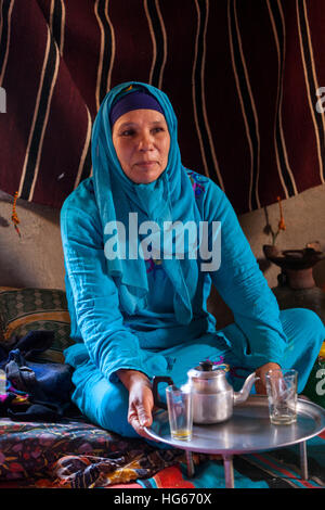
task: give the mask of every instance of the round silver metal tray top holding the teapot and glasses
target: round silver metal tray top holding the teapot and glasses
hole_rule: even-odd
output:
[[[290,425],[270,423],[268,397],[251,395],[246,403],[234,407],[230,420],[209,425],[193,425],[191,441],[170,436],[168,412],[158,410],[146,429],[156,441],[202,454],[240,455],[281,448],[304,442],[325,429],[325,409],[298,398],[297,422]]]

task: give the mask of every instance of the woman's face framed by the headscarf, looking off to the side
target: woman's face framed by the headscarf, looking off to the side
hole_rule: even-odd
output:
[[[113,144],[123,173],[138,184],[158,179],[168,163],[170,136],[164,115],[133,110],[113,126]]]

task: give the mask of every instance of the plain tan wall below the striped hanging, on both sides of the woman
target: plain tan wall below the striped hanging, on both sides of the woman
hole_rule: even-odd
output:
[[[18,200],[20,238],[11,221],[12,200],[0,192],[0,285],[64,289],[60,212]],[[281,250],[302,248],[317,240],[325,251],[325,186],[284,201],[283,211],[287,229],[281,232],[276,243]],[[268,212],[272,226],[276,227],[278,205],[273,204]],[[263,269],[262,245],[270,243],[263,233],[264,209],[247,213],[239,221]],[[277,284],[278,272],[273,265],[264,271],[270,286]],[[325,262],[315,267],[314,277],[317,284],[325,285]]]

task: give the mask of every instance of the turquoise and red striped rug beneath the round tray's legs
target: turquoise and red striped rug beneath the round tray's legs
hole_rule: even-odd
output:
[[[307,442],[308,480],[300,477],[299,446],[234,457],[235,488],[324,488],[325,434]],[[117,486],[116,486],[117,487]],[[127,485],[125,485],[127,487]],[[205,460],[190,479],[185,463],[170,467],[132,487],[141,488],[224,488],[222,460]]]

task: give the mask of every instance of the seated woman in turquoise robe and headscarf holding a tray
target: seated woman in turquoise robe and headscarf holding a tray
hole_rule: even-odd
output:
[[[324,326],[310,310],[278,310],[224,193],[182,166],[166,94],[139,82],[115,87],[93,126],[92,163],[93,177],[61,214],[76,342],[65,359],[75,368],[73,400],[80,410],[107,430],[145,436],[152,378],[181,384],[204,359],[227,364],[236,390],[240,374],[256,371],[258,393],[266,370],[294,367],[301,392]],[[188,234],[180,252],[180,231],[166,242],[176,221],[221,230],[209,229],[196,244]],[[211,260],[214,246],[220,265]],[[234,314],[221,331],[206,308],[211,283]]]

